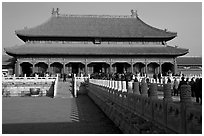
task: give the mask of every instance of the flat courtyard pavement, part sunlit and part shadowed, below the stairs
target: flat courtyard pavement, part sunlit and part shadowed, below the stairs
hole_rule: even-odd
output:
[[[2,98],[3,134],[118,134],[86,95],[78,98]]]

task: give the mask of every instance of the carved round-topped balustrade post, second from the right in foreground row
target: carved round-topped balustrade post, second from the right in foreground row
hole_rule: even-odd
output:
[[[173,99],[171,97],[171,84],[170,83],[163,85],[163,92],[164,92],[163,100],[166,102],[172,102]]]

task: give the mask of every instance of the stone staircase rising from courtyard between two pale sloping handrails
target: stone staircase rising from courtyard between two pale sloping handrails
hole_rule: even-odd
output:
[[[56,98],[73,98],[71,91],[72,91],[71,81],[69,80],[67,82],[59,81],[57,85]]]

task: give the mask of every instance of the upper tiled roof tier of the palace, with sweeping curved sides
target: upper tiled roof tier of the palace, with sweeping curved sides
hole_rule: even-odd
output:
[[[110,15],[53,15],[45,23],[16,31],[27,41],[35,37],[97,37],[139,38],[168,41],[177,33],[157,29],[144,23],[138,16]]]

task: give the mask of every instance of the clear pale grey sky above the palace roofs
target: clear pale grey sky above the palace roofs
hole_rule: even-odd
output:
[[[79,15],[131,15],[131,9],[136,9],[145,23],[177,32],[168,45],[189,49],[186,56],[202,56],[201,2],[3,2],[2,51],[23,45],[15,30],[44,23],[52,8],[59,8],[61,14]]]

